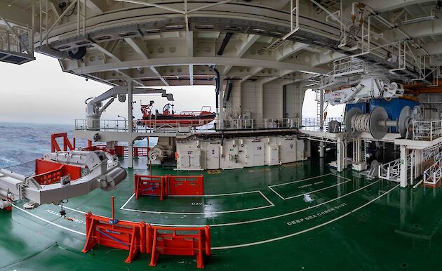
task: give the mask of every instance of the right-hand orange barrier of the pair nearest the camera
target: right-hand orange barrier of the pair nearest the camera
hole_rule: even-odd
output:
[[[210,227],[161,227],[148,225],[147,246],[152,242],[150,266],[156,266],[160,254],[195,256],[196,267],[204,268],[203,254],[210,256]]]

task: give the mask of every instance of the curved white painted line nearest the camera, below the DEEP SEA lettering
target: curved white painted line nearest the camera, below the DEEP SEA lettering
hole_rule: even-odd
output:
[[[384,194],[388,194],[389,192],[393,191],[397,187],[399,187],[399,185],[396,185],[395,187],[391,188],[390,190],[388,190]],[[342,218],[344,218],[346,216],[351,215],[352,213],[355,213],[356,211],[359,211],[359,210],[363,209],[364,207],[368,206],[369,204],[372,204],[374,201],[377,201],[377,199],[380,199],[380,197],[384,196],[384,194],[381,194],[380,196],[375,197],[374,199],[368,201],[366,204],[363,204],[363,205],[359,206],[358,208],[349,211],[348,213],[344,213],[342,216],[338,216],[337,218],[333,218],[332,220],[328,220],[327,222],[324,222],[322,224],[316,225],[314,227],[309,227],[308,229],[301,230],[300,232],[295,232],[295,233],[292,233],[292,234],[284,235],[284,236],[281,236],[281,237],[276,237],[276,238],[273,238],[273,239],[267,239],[267,240],[263,240],[263,241],[260,241],[260,242],[253,242],[253,243],[247,243],[247,244],[237,244],[237,245],[233,245],[233,246],[215,246],[215,247],[212,247],[212,249],[213,250],[236,249],[236,248],[245,247],[245,246],[255,246],[257,244],[266,244],[266,243],[278,241],[278,240],[281,240],[281,239],[286,239],[286,238],[289,238],[289,237],[293,237],[293,236],[302,234],[304,232],[309,232],[311,230],[315,230],[315,229],[317,229],[319,227],[323,227],[325,225],[333,223],[333,222],[335,222],[337,220],[340,220],[340,219],[342,219]]]

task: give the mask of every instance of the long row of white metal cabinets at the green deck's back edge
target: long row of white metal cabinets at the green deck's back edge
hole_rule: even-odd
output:
[[[309,147],[293,135],[177,140],[177,169],[234,169],[302,161]]]

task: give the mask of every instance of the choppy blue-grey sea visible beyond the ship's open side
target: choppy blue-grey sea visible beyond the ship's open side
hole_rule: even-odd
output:
[[[69,140],[72,140],[73,131],[74,125],[69,124],[0,122],[0,168],[24,164],[43,157],[46,152],[51,152],[51,134],[66,132]],[[147,140],[139,140],[134,145],[146,146]],[[156,138],[151,138],[149,145],[156,145]],[[76,140],[76,147],[86,146],[87,140]]]

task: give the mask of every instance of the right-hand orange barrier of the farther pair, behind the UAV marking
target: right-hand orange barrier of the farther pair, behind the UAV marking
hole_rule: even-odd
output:
[[[204,194],[204,176],[168,176],[168,195],[193,196]]]

